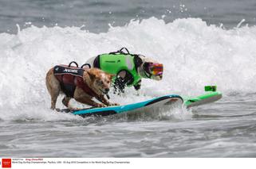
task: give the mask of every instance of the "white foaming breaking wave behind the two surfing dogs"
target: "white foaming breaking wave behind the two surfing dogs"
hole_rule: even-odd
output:
[[[112,95],[112,102],[137,102],[162,94],[201,94],[205,85],[217,85],[224,94],[254,92],[255,46],[255,27],[226,30],[199,18],[166,24],[152,17],[99,34],[57,26],[31,26],[16,35],[0,33],[1,118],[65,119],[46,110],[50,106],[46,71],[73,60],[81,65],[89,57],[122,47],[163,63],[163,80],[144,79],[140,96],[128,89],[125,97]],[[57,106],[61,107],[60,100]]]

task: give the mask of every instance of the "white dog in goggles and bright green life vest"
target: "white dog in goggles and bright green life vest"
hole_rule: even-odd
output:
[[[124,93],[125,86],[134,86],[136,90],[140,90],[141,79],[163,78],[162,63],[146,56],[131,54],[127,48],[90,58],[86,64],[116,75],[113,86],[115,92],[119,93]]]

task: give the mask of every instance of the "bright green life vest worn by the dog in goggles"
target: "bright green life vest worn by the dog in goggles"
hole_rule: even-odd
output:
[[[117,75],[120,71],[128,71],[133,78],[132,83],[128,83],[128,86],[134,86],[139,83],[141,77],[136,71],[134,64],[134,56],[129,54],[102,54],[100,55],[100,69],[110,74]],[[116,76],[113,77],[113,81]]]

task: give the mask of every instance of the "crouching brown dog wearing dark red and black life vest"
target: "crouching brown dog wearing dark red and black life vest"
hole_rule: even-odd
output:
[[[51,95],[51,109],[56,108],[57,97],[61,91],[65,94],[62,103],[66,107],[69,107],[71,98],[94,107],[118,105],[104,98],[104,94],[108,94],[112,76],[97,68],[85,70],[65,65],[51,68],[46,75],[46,86]],[[93,98],[104,104],[94,102]]]

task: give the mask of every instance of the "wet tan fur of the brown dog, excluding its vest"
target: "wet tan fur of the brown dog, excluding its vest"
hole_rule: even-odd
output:
[[[96,99],[102,103],[97,103],[93,101],[93,97],[89,94],[86,94],[84,90],[76,86],[76,89],[73,94],[73,98],[77,102],[93,106],[93,107],[105,107],[105,106],[117,106],[116,103],[108,102],[104,98],[104,94],[108,93],[109,87],[112,82],[112,76],[104,71],[101,71],[97,68],[86,69],[83,74],[84,83],[86,83],[91,90],[93,90],[97,96]],[[61,84],[53,74],[53,68],[49,69],[46,74],[45,83],[47,90],[51,96],[51,109],[56,109],[57,97],[62,93]],[[70,97],[65,96],[62,99],[62,103],[69,109],[73,109],[69,106]]]

